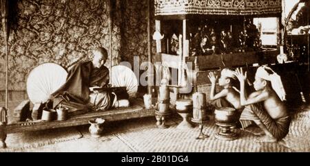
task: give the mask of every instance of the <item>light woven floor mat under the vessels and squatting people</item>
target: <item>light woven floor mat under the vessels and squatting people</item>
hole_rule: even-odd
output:
[[[167,129],[156,128],[156,121],[147,119],[141,121],[141,126],[139,122],[128,123],[114,134],[134,152],[309,152],[309,117],[310,111],[293,115],[289,134],[278,143],[258,143],[256,136],[243,130],[236,130],[239,139],[220,141],[214,137],[218,132],[214,121],[205,123],[204,132],[210,137],[197,140],[198,126],[191,130],[177,129],[180,119],[169,119]]]

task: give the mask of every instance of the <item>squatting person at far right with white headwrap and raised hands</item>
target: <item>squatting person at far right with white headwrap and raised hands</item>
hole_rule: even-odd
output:
[[[240,102],[242,106],[251,106],[251,109],[242,111],[242,128],[247,128],[249,122],[254,121],[265,132],[265,136],[258,141],[276,142],[283,139],[289,132],[291,119],[282,102],[285,100],[285,91],[280,76],[269,67],[259,67],[254,82],[256,91],[249,97],[245,96],[247,72],[243,74],[242,69],[237,69],[236,76],[240,81]]]

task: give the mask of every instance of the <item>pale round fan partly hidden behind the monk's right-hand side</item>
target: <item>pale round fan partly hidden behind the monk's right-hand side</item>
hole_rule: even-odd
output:
[[[136,95],[138,91],[138,80],[131,69],[117,65],[112,67],[111,84],[114,87],[125,86],[130,97]]]

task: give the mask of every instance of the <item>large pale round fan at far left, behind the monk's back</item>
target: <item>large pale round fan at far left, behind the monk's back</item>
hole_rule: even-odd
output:
[[[52,93],[65,84],[67,71],[54,63],[32,69],[27,78],[27,93],[32,103],[46,102]]]

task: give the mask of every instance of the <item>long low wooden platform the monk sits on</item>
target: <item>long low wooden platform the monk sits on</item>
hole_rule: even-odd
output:
[[[72,116],[70,119],[65,121],[23,121],[10,124],[2,123],[2,125],[0,123],[0,148],[6,147],[6,135],[10,133],[48,130],[52,128],[65,128],[69,126],[81,126],[88,124],[88,121],[94,118],[103,118],[105,121],[119,121],[124,119],[153,116],[155,116],[154,108],[146,109],[144,108],[142,99],[134,99],[131,101],[130,107],[114,108],[112,110],[102,112],[87,112],[83,115]]]

